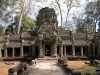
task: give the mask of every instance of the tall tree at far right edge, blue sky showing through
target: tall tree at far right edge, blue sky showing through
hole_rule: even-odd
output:
[[[91,20],[91,25],[93,25],[94,32],[96,32],[96,25],[100,21],[100,1],[89,2],[86,5],[86,15]]]

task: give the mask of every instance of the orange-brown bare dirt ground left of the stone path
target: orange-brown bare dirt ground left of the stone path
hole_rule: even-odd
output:
[[[10,63],[10,64],[8,64]],[[14,63],[14,64],[12,64]],[[16,61],[16,62],[1,62],[0,61],[0,75],[8,75],[8,69],[11,68],[11,67],[14,67],[16,65],[18,65],[20,62],[19,61]]]

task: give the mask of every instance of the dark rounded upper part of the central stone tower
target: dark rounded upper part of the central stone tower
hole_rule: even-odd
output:
[[[57,21],[57,15],[55,14],[54,9],[52,8],[42,8],[39,11],[39,15],[36,17],[36,25],[39,27],[40,25],[43,25],[45,23],[52,24],[52,25],[58,25]]]

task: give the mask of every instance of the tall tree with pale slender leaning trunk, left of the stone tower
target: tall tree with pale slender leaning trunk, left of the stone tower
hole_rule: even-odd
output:
[[[19,4],[18,8],[20,10],[20,18],[18,22],[17,34],[20,33],[23,16],[29,14],[30,10],[34,9],[34,6],[36,5],[37,2],[42,2],[42,1],[43,0],[16,0],[16,2]]]

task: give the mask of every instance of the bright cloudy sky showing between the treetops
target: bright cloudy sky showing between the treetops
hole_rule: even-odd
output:
[[[45,3],[37,3],[36,4],[37,7],[35,7],[34,10],[33,9],[31,10],[31,14],[29,14],[29,16],[31,18],[35,19],[36,18],[36,15],[38,14],[39,8],[48,7],[48,6],[52,8],[53,6],[52,5],[49,5],[50,4],[50,1],[52,1],[52,0],[47,0],[47,2],[45,2]],[[92,0],[88,0],[88,1],[91,2]],[[62,0],[61,0],[60,4],[61,4],[62,10],[65,10],[66,11],[66,7],[62,3]],[[80,0],[80,5],[81,6],[80,7],[74,7],[74,8],[71,9],[70,14],[68,16],[68,21],[70,23],[73,22],[72,21],[72,16],[73,16],[72,14],[73,13],[75,13],[75,15],[77,15],[77,16],[80,16],[82,13],[85,12],[84,8],[85,8],[86,4],[87,4],[87,0]],[[9,8],[9,10],[10,10],[10,8]],[[59,12],[59,11],[56,11],[56,14],[58,14],[57,12]],[[64,22],[65,19],[66,19],[66,13],[63,12],[62,14],[63,14],[62,16],[63,16],[63,22]],[[13,14],[13,15],[15,15],[15,14]],[[57,15],[57,19],[58,19],[58,24],[60,26],[60,24],[61,24],[60,15]],[[3,24],[3,25],[5,25],[4,22],[0,22],[0,23]]]

